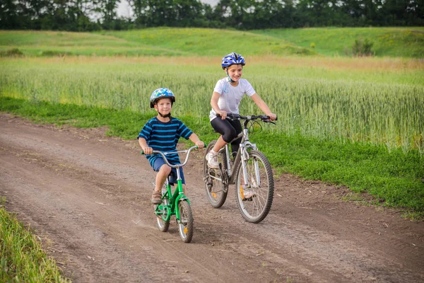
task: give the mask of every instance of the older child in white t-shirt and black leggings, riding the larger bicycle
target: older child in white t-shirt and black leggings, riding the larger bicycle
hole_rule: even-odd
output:
[[[254,88],[245,79],[241,79],[243,66],[245,66],[245,58],[242,55],[232,52],[223,57],[221,67],[225,71],[225,78],[220,79],[215,88],[211,98],[212,110],[209,114],[209,120],[216,132],[221,136],[216,141],[213,149],[206,155],[209,168],[218,168],[218,151],[232,141],[237,134],[242,132],[242,125],[240,120],[232,121],[225,119],[227,113],[239,114],[239,105],[245,94],[252,98],[254,103],[261,109],[265,115],[268,115],[271,120],[276,120],[275,115],[269,110],[268,105],[262,100]],[[220,115],[217,117],[216,115]],[[237,154],[240,147],[240,139],[232,141],[231,151],[232,154]]]

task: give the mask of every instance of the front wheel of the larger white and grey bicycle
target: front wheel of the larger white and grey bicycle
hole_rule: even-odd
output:
[[[237,205],[243,218],[251,223],[264,220],[273,201],[273,175],[268,159],[260,151],[249,151],[246,177],[240,165],[235,184]]]

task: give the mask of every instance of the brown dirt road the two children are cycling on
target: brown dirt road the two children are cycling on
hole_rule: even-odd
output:
[[[142,125],[141,125],[142,126]],[[424,282],[424,222],[343,202],[349,191],[292,175],[271,212],[242,220],[230,187],[208,204],[196,151],[185,167],[192,243],[156,227],[154,173],[134,141],[105,129],[0,115],[0,195],[73,282]]]

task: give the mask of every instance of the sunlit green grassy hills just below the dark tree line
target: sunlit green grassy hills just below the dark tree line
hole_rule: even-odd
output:
[[[424,58],[424,28],[300,28],[217,30],[149,28],[99,33],[0,31],[0,51],[31,56],[125,55],[218,56],[237,50],[249,56],[344,56],[355,39],[374,44],[376,57]],[[312,47],[314,46],[314,47]]]

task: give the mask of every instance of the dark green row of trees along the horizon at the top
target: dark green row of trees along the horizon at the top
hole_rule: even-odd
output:
[[[117,16],[119,1],[133,15]],[[1,0],[0,29],[128,30],[424,25],[424,0]]]

